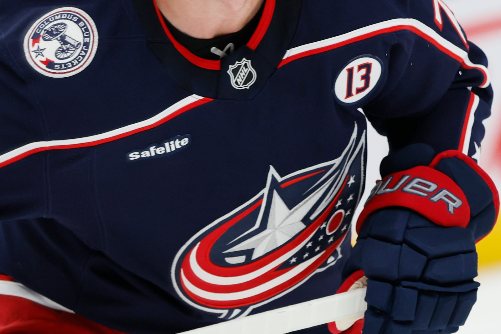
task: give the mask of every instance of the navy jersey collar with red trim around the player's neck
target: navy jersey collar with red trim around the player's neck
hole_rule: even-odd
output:
[[[246,45],[215,61],[192,54],[173,38],[155,0],[132,0],[148,46],[178,86],[200,96],[235,100],[256,96],[282,61],[298,25],[302,0],[265,1],[258,27]],[[259,80],[249,89],[235,90],[227,84],[227,70],[242,57],[259,67],[256,68]]]

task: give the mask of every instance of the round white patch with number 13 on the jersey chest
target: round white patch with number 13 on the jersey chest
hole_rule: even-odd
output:
[[[366,97],[379,83],[383,62],[376,56],[352,59],[338,74],[334,94],[343,103],[354,103]]]

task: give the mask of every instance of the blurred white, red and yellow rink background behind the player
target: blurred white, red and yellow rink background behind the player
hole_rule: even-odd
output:
[[[501,192],[501,0],[443,1],[458,19],[468,40],[478,45],[489,60],[494,102],[492,115],[483,122],[486,135],[481,145],[479,164]],[[379,166],[379,161],[387,154],[386,139],[370,128],[367,146],[367,165]],[[378,169],[367,170],[365,197],[379,178]],[[365,197],[361,203],[365,202]],[[477,244],[477,251],[479,269],[476,280],[481,286],[466,324],[457,333],[501,333],[498,319],[501,316],[501,219],[494,230]]]

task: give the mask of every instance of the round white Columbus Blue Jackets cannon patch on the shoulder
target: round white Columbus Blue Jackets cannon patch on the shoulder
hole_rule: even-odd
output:
[[[91,17],[73,8],[58,8],[37,20],[25,36],[28,63],[39,73],[70,77],[82,72],[96,54],[98,33]]]

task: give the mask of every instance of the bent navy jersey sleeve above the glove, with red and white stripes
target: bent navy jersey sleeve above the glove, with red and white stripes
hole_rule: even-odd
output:
[[[478,160],[492,102],[486,57],[442,0],[407,3],[409,27],[393,35],[387,80],[363,110],[390,153],[425,143]]]

